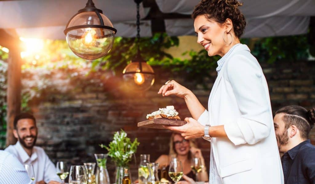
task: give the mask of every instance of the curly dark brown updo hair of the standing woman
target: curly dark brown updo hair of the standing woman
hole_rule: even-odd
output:
[[[224,23],[227,18],[233,22],[235,35],[240,38],[244,32],[246,21],[244,15],[238,9],[242,6],[237,0],[201,0],[192,12],[192,18],[198,15],[206,15],[208,19],[214,19],[220,24]]]

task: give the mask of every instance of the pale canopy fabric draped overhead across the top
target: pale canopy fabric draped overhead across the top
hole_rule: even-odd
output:
[[[199,0],[155,0],[163,13],[190,15]],[[84,8],[87,0],[0,1],[0,28],[14,28],[26,38],[65,39],[69,19]],[[133,0],[93,0],[117,29],[117,36],[136,36],[136,4]],[[315,0],[243,0],[240,7],[247,26],[243,37],[268,37],[307,32],[310,16],[315,16]],[[150,9],[140,4],[140,18]],[[193,35],[192,19],[167,19],[171,36]],[[140,35],[152,36],[151,21],[141,21]]]

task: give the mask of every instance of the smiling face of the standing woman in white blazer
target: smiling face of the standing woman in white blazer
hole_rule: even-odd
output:
[[[198,15],[194,21],[197,42],[208,51],[209,56],[224,55],[223,48],[226,43],[223,40],[224,26],[214,20],[209,20],[206,15]]]

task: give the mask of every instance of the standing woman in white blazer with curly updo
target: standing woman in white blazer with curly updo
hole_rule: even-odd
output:
[[[267,82],[256,58],[239,41],[246,25],[240,5],[237,0],[202,0],[192,13],[198,43],[209,56],[222,56],[209,111],[174,80],[158,93],[184,98],[192,115],[186,125],[167,128],[185,139],[212,137],[210,184],[283,184]]]

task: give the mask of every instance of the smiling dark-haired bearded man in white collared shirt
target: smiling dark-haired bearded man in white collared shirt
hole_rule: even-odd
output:
[[[32,164],[36,184],[58,184],[61,182],[56,174],[56,168],[43,148],[34,146],[37,139],[35,117],[21,113],[14,118],[14,137],[18,139],[15,145],[5,149],[17,157],[22,164]]]

